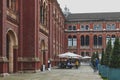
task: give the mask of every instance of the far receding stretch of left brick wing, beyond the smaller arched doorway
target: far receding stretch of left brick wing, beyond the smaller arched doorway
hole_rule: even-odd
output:
[[[64,23],[65,16],[56,0],[50,3],[50,36],[49,36],[49,54],[53,65],[58,61],[58,54],[63,53],[64,47]]]

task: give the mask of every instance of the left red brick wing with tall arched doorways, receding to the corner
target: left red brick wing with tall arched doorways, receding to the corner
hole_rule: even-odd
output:
[[[0,74],[54,63],[64,52],[64,20],[56,0],[0,0]]]

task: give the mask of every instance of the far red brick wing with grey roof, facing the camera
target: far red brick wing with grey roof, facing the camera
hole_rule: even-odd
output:
[[[68,14],[65,23],[66,51],[82,56],[101,53],[108,39],[120,37],[120,13]]]

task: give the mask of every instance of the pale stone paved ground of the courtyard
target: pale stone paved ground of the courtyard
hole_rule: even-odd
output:
[[[0,80],[102,80],[90,66],[80,66],[79,69],[52,69],[38,73],[17,73]]]

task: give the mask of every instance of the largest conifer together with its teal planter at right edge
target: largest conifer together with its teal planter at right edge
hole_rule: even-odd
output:
[[[110,58],[109,80],[120,80],[120,41],[116,38]]]

